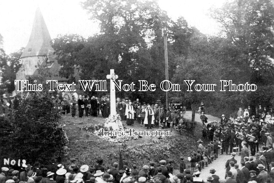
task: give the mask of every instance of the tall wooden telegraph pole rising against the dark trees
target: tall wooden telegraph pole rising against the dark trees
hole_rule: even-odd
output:
[[[162,29],[162,36],[164,37],[164,48],[165,48],[165,80],[168,80],[168,31],[166,28]],[[168,82],[165,83],[166,89],[168,88]],[[169,108],[169,95],[168,91],[165,92],[165,104],[166,109]]]

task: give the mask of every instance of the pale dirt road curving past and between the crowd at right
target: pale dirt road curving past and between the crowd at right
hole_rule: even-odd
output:
[[[184,115],[185,118],[187,119],[191,119],[191,114],[192,112],[191,111],[187,111]],[[211,123],[212,121],[216,120],[216,121],[219,121],[220,118],[218,117],[215,117],[215,116],[212,116],[212,115],[207,115],[206,114],[206,117],[208,117],[208,122]],[[202,123],[201,122],[201,119],[200,119],[200,115],[198,113],[195,114],[195,121],[199,122],[199,123]],[[202,173],[200,175],[201,178],[204,179],[204,181],[206,182],[206,178],[210,175],[209,174],[209,170],[211,168],[214,168],[216,170],[216,173],[220,179],[224,179],[224,176],[225,176],[225,163],[228,159],[231,158],[231,156],[227,156],[227,155],[220,155],[220,149],[219,149],[219,157],[213,161],[213,163],[209,164],[208,167],[205,167],[204,169],[202,169]],[[240,157],[241,156],[238,156],[236,155],[235,159],[238,161],[237,163],[240,163]],[[241,167],[241,165],[239,165],[239,167]]]

